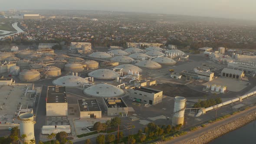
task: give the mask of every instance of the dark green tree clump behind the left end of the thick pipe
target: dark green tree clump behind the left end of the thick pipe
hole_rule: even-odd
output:
[[[217,105],[220,103],[222,103],[221,98],[210,98],[204,101],[199,99],[198,102],[193,105],[193,108],[208,108],[210,106]]]

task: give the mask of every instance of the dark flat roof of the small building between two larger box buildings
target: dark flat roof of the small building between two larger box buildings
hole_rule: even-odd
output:
[[[79,99],[78,105],[80,111],[102,111],[96,99]]]

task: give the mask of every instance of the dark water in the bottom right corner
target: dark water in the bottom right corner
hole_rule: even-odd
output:
[[[231,131],[209,144],[256,144],[256,121]]]

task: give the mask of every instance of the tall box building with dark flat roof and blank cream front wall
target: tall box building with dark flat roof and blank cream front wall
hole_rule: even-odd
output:
[[[48,86],[46,95],[46,116],[67,116],[68,101],[65,86]]]

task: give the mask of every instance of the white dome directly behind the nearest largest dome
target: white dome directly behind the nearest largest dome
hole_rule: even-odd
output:
[[[97,69],[89,72],[88,76],[94,77],[95,79],[116,79],[120,75],[110,69]]]

